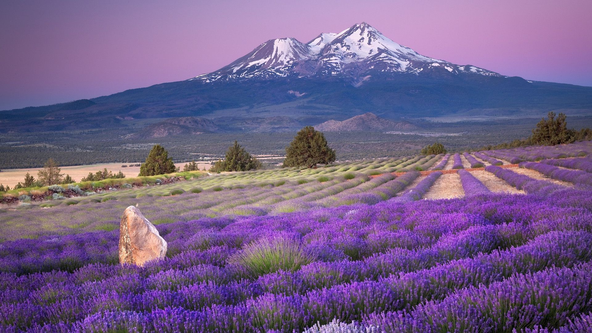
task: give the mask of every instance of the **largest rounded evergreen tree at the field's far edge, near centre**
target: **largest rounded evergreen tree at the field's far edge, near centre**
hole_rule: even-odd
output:
[[[313,168],[317,164],[332,162],[335,162],[335,151],[329,148],[323,133],[313,126],[306,126],[286,148],[284,167]]]

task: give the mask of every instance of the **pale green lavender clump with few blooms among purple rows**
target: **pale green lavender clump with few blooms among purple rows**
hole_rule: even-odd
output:
[[[234,254],[230,262],[240,265],[250,277],[279,270],[297,271],[315,261],[317,255],[291,238],[260,239]]]

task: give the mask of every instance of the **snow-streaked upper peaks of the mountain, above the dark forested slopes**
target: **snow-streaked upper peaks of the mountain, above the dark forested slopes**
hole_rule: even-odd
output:
[[[308,43],[294,38],[268,40],[230,65],[191,80],[212,82],[282,76],[338,76],[360,84],[375,75],[398,73],[501,76],[475,66],[455,65],[420,55],[363,22],[337,34],[322,33]]]

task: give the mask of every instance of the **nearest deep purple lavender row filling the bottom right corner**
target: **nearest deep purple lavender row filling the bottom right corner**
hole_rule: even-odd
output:
[[[490,286],[459,290],[410,311],[369,316],[365,322],[397,332],[559,328],[568,324],[567,317],[592,310],[591,268],[587,263],[518,274]]]

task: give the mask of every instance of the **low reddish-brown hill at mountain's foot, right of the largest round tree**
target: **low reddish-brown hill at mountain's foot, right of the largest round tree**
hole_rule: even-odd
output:
[[[343,121],[329,120],[314,126],[321,132],[380,132],[387,130],[411,130],[417,127],[406,121],[391,121],[368,112]]]

